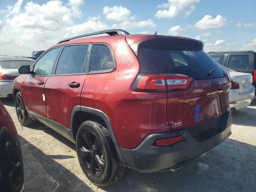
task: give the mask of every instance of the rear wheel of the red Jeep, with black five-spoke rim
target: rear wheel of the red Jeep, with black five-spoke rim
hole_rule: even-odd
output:
[[[109,131],[97,122],[88,120],[80,125],[76,152],[84,174],[96,186],[110,185],[124,172]]]

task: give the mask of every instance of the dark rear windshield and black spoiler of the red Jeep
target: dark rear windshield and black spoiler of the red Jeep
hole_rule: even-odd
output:
[[[141,73],[185,74],[195,80],[223,77],[223,70],[202,50],[202,43],[178,38],[146,40],[138,46]],[[207,74],[217,68],[211,76]]]

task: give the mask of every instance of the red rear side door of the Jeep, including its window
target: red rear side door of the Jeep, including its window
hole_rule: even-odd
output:
[[[80,105],[80,94],[87,76],[88,47],[88,44],[64,46],[44,87],[47,122],[64,136],[68,136],[73,107]]]

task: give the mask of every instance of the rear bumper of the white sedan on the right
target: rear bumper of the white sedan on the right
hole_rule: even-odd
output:
[[[249,106],[254,99],[255,88],[251,87],[250,92],[244,94],[237,94],[235,90],[229,92],[229,106],[232,109],[241,109]]]

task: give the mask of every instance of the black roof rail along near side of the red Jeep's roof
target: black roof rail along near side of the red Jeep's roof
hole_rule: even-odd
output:
[[[109,35],[119,35],[118,33],[120,33],[122,35],[130,35],[130,33],[128,33],[125,30],[122,30],[122,29],[110,29],[110,30],[92,32],[92,33],[88,33],[88,34],[83,34],[83,35],[78,35],[78,36],[66,38],[66,39],[63,39],[63,40],[59,41],[57,44],[62,43],[62,42],[66,42],[66,41],[69,41],[69,40],[73,40],[73,39],[78,39],[78,38],[92,36],[92,35],[98,35],[98,34],[105,34],[105,33],[109,34]]]

